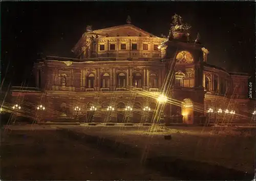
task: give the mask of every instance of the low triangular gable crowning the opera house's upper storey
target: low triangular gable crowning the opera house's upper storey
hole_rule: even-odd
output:
[[[141,34],[142,37],[150,37],[151,35],[151,33],[148,33],[131,24],[95,30],[95,31],[92,31],[91,33],[108,34],[109,36],[113,36],[113,37],[116,37],[117,34],[119,34],[119,36],[127,36],[128,34],[130,36],[139,36],[139,34]],[[156,36],[153,35],[153,37],[156,37]]]

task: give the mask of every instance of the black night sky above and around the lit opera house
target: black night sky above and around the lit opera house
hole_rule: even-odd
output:
[[[192,36],[200,32],[208,63],[245,73],[255,66],[254,2],[1,2],[1,8],[2,79],[7,72],[6,82],[15,85],[30,80],[38,54],[72,57],[87,25],[123,25],[127,15],[159,36],[168,35],[177,13],[192,26]]]

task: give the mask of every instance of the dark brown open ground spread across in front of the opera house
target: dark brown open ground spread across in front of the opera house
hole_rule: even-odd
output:
[[[233,129],[225,130],[226,135],[215,135],[212,128],[202,132],[200,127],[173,127],[168,132],[172,140],[164,140],[165,133],[148,137],[146,129],[54,125],[2,128],[1,180],[253,178],[254,129],[248,137],[236,135]]]

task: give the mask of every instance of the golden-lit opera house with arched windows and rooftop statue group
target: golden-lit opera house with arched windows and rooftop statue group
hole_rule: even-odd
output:
[[[13,87],[13,104],[20,115],[41,121],[199,124],[222,110],[231,121],[243,121],[248,75],[208,64],[199,34],[191,40],[179,18],[173,16],[168,37],[129,18],[111,28],[88,26],[72,50],[76,58],[38,60],[37,87]]]

